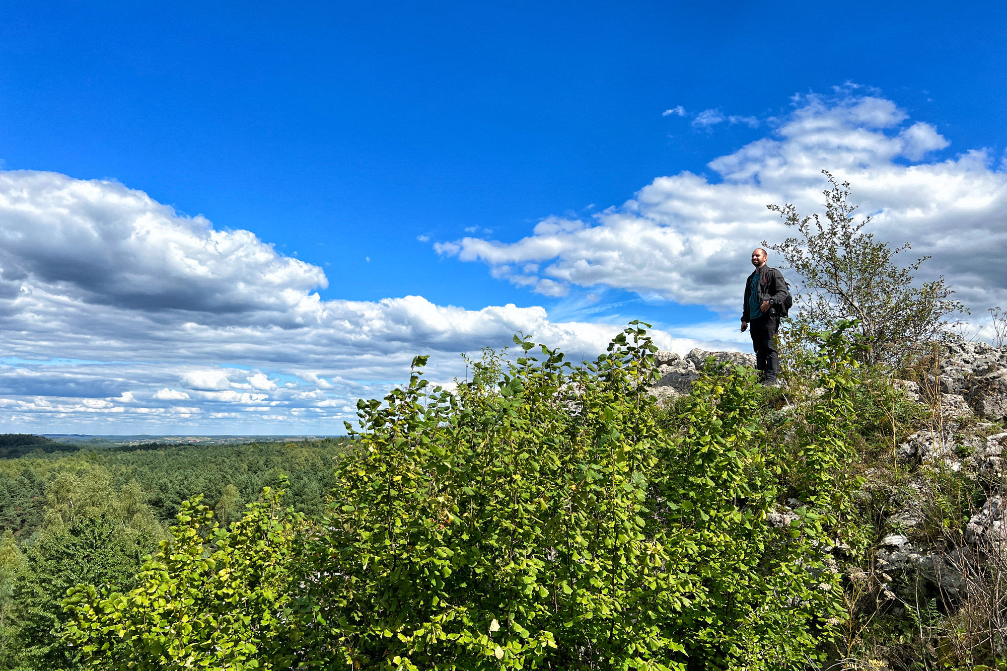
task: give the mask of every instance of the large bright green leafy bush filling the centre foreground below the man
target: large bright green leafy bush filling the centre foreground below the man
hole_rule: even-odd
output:
[[[456,393],[414,371],[386,405],[358,404],[362,449],[310,553],[305,654],[402,669],[815,657],[843,617],[822,552],[835,516],[766,522],[779,465],[754,379],[711,370],[669,419],[637,324],[580,367],[518,344],[516,365],[490,354]]]

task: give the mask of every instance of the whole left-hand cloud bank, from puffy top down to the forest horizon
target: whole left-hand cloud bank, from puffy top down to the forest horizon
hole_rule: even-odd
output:
[[[435,355],[429,374],[450,381],[464,374],[459,353],[518,331],[593,357],[619,328],[514,304],[322,300],[325,284],[320,268],[247,231],[217,231],[122,184],[0,172],[0,358],[11,362],[0,420],[44,432],[338,432],[356,399],[384,395],[417,354]]]

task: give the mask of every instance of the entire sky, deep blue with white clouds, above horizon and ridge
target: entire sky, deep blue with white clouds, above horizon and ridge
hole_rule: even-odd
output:
[[[1005,32],[1002,3],[7,2],[0,159],[8,200],[29,192],[50,228],[0,258],[17,333],[0,420],[330,433],[415,351],[448,380],[458,352],[523,324],[584,354],[636,317],[668,347],[743,348],[731,292],[779,231],[728,211],[812,208],[820,168],[861,177],[865,206],[889,214],[879,234],[933,254],[981,313],[1007,298],[993,260],[971,261],[1004,221]],[[864,137],[869,159],[850,153]],[[710,204],[722,217],[695,214]],[[167,229],[195,236],[184,249],[209,230],[254,240],[148,273],[167,234],[137,251],[115,227],[161,205]],[[0,233],[41,231],[25,212],[0,208]],[[973,233],[948,241],[949,227]],[[381,302],[406,296],[426,303]],[[371,316],[305,321],[310,300]]]

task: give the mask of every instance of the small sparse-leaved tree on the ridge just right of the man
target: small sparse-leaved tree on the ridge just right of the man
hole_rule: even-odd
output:
[[[799,236],[762,245],[801,275],[801,321],[827,330],[842,319],[856,319],[870,343],[861,354],[865,363],[903,364],[945,332],[949,315],[967,310],[950,299],[954,290],[943,275],[932,282],[914,282],[928,256],[899,267],[895,256],[910,249],[909,243],[892,249],[874,234],[861,233],[871,218],[854,221],[857,206],[850,203],[850,183],[836,181],[827,170],[822,173],[831,184],[823,191],[827,221],[818,215],[802,217],[793,205],[766,206]]]

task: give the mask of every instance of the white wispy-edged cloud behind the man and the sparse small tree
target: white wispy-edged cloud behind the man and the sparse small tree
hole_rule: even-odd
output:
[[[707,110],[696,122],[721,117]],[[808,96],[777,124],[769,137],[711,161],[716,179],[692,172],[659,177],[587,221],[549,218],[518,242],[468,237],[436,249],[482,261],[494,276],[548,295],[570,285],[607,286],[733,311],[750,271],[748,253],[787,235],[766,205],[821,211],[824,168],[853,184],[881,239],[909,240],[914,253],[932,255],[925,272],[945,274],[966,302],[982,309],[1007,299],[1000,259],[1007,173],[985,152],[919,162],[949,141],[871,96]],[[541,271],[525,272],[526,264]]]

